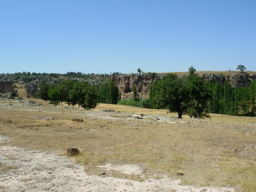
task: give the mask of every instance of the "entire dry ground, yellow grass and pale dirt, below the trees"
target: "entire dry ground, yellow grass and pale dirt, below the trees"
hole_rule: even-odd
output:
[[[2,192],[256,191],[256,118],[32,100],[0,100]]]

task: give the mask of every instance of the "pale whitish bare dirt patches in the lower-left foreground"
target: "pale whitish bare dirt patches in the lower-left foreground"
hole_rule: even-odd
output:
[[[9,138],[0,136],[0,142]],[[232,188],[180,186],[180,180],[151,178],[144,182],[113,177],[90,176],[84,167],[67,156],[29,150],[17,146],[0,146],[0,163],[11,166],[0,174],[1,192],[234,192]],[[108,165],[108,168],[111,166]],[[118,169],[118,167],[116,167]],[[122,166],[123,172],[141,173],[137,166]]]

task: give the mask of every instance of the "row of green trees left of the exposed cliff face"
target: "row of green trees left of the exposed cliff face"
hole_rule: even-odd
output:
[[[95,108],[99,102],[117,104],[119,91],[112,80],[106,80],[102,86],[90,85],[88,82],[64,80],[52,85],[41,84],[36,96],[50,100],[54,105],[67,102],[68,105],[78,104],[78,108]]]

